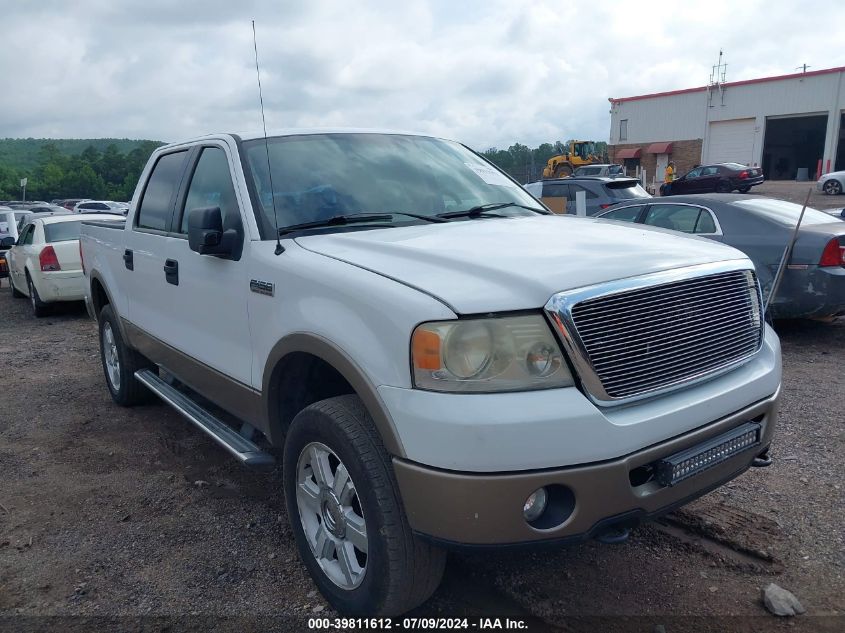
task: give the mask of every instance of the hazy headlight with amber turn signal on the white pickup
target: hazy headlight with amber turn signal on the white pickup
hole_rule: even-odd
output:
[[[423,323],[411,340],[414,385],[434,391],[569,387],[572,375],[539,314]]]

